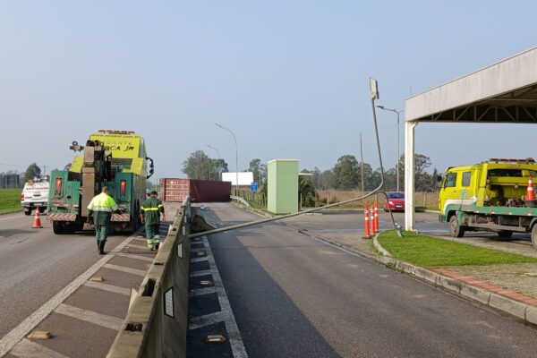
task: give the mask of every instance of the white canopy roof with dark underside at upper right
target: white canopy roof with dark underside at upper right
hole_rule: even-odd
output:
[[[405,121],[537,123],[537,47],[406,99]]]

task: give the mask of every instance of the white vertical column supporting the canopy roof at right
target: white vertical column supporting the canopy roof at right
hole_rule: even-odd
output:
[[[405,121],[405,230],[414,230],[414,128]]]

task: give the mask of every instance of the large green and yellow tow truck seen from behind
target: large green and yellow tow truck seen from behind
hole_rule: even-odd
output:
[[[90,134],[85,146],[73,141],[70,149],[81,152],[64,170],[50,175],[47,219],[55,234],[82,230],[90,221],[88,204],[103,186],[109,188],[121,214],[112,215],[112,230],[134,232],[140,226],[140,206],[147,179],[154,172],[145,141],[131,131],[101,130]]]

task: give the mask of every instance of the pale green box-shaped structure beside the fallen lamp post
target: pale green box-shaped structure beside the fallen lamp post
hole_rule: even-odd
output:
[[[298,212],[298,159],[274,159],[267,163],[268,211]]]

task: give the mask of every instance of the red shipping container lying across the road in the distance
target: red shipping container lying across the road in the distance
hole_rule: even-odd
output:
[[[217,182],[198,179],[161,178],[160,199],[182,202],[190,196],[194,202],[229,201],[230,182]]]

